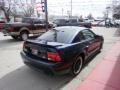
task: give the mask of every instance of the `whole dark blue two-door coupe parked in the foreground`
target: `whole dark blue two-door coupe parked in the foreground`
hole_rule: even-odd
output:
[[[26,65],[52,73],[77,75],[84,63],[103,46],[103,37],[77,26],[56,27],[35,40],[24,42]]]

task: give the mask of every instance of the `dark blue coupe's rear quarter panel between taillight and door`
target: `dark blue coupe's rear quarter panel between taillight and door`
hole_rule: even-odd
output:
[[[75,43],[66,46],[62,46],[59,49],[59,52],[62,56],[62,59],[65,62],[74,62],[76,57],[78,57],[81,53],[85,53],[84,51],[85,44],[83,43]]]

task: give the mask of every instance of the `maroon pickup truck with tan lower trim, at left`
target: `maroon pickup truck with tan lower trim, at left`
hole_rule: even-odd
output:
[[[14,39],[26,40],[29,34],[45,32],[45,27],[45,20],[26,17],[22,19],[22,22],[6,23],[2,32],[5,36],[10,35]],[[48,24],[48,28],[52,28],[52,25]]]

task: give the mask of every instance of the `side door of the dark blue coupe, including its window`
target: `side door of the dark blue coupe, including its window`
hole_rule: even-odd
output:
[[[85,41],[88,42],[88,45],[86,46],[88,55],[93,54],[96,51],[96,39],[95,34],[91,32],[89,29],[82,30],[81,31],[85,37]]]

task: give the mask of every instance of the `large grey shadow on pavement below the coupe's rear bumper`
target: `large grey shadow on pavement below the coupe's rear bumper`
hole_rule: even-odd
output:
[[[0,79],[0,90],[58,90],[72,78],[70,75],[49,76],[23,66]]]

